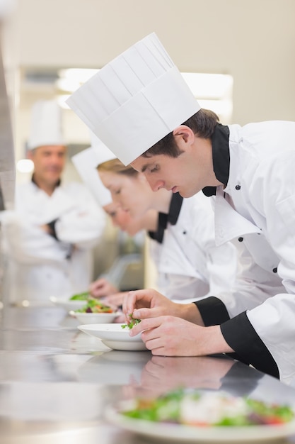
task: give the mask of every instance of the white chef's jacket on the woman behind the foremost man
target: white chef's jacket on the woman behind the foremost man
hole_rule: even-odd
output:
[[[231,243],[216,246],[211,202],[202,192],[177,200],[181,205],[180,211],[174,205],[177,220],[171,223],[168,214],[163,241],[153,247],[158,290],[169,299],[187,302],[231,289],[237,251]]]

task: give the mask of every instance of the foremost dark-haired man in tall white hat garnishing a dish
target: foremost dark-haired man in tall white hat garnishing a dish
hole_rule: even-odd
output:
[[[141,319],[130,334],[142,332],[154,355],[235,353],[291,383],[295,123],[222,125],[200,109],[155,34],[112,60],[68,103],[155,192],[214,196],[217,245],[232,240],[241,248],[231,292],[183,306],[154,290],[129,294],[123,309]]]

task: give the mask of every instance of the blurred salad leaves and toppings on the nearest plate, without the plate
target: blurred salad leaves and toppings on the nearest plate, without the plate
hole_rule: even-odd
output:
[[[187,389],[168,392],[155,399],[136,399],[132,409],[122,414],[145,421],[197,427],[280,425],[294,420],[291,406]]]

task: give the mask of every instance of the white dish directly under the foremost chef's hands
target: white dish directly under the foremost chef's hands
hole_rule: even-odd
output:
[[[129,328],[122,328],[121,325],[120,323],[88,324],[78,328],[88,335],[96,336],[114,350],[146,350],[141,335],[130,336]]]

